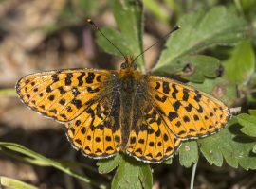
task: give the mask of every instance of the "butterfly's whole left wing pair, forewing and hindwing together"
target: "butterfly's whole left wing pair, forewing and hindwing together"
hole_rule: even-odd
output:
[[[83,154],[101,158],[119,151],[117,76],[104,70],[49,71],[22,77],[16,90],[32,110],[64,122],[68,139]]]

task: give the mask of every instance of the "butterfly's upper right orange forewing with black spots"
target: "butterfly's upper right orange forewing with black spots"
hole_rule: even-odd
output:
[[[198,138],[222,129],[229,108],[209,94],[165,77],[148,77],[148,88],[162,121],[180,139]]]

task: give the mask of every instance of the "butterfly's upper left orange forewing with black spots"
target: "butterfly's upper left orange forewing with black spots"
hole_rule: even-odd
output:
[[[27,106],[48,117],[66,122],[76,118],[95,96],[106,93],[109,71],[71,69],[22,77],[16,90]]]

